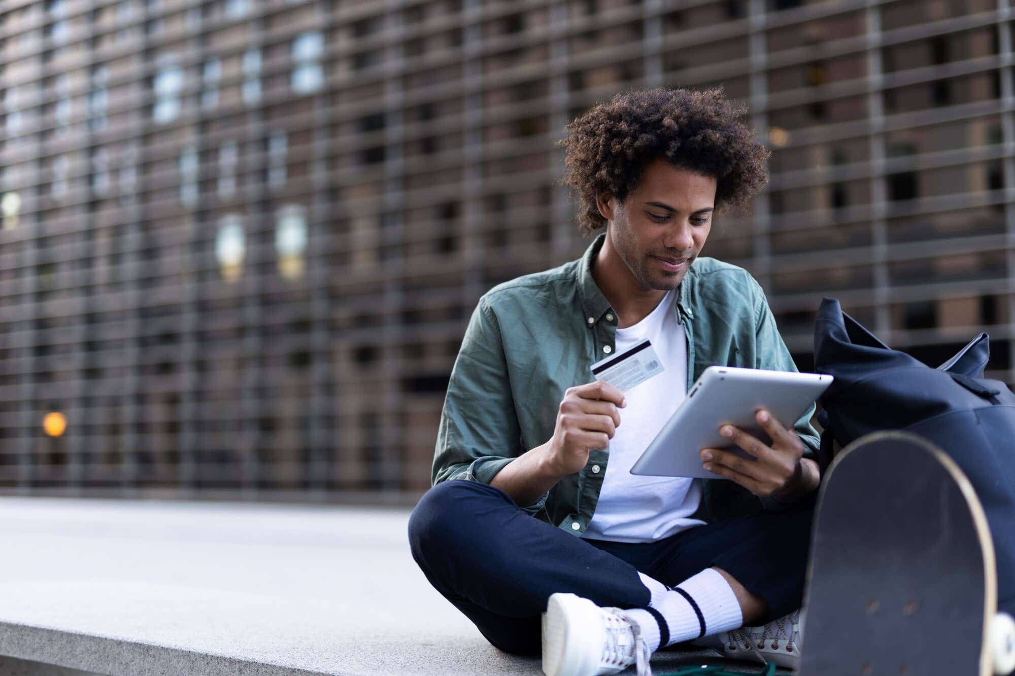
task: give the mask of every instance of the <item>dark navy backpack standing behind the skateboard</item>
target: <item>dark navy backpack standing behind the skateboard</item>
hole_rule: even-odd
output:
[[[1015,614],[1015,395],[985,379],[982,333],[937,368],[893,350],[825,298],[814,327],[814,369],[834,377],[819,464],[872,431],[904,429],[936,444],[969,478],[987,513],[998,563],[998,606]],[[887,516],[887,515],[886,515]]]

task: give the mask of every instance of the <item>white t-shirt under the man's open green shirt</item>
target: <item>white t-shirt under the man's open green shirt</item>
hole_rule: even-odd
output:
[[[620,426],[610,440],[610,460],[592,522],[583,537],[651,542],[704,522],[688,519],[701,500],[701,482],[682,477],[638,476],[631,467],[683,402],[687,340],[670,290],[645,319],[617,329],[616,354],[648,338],[665,370],[624,393]]]

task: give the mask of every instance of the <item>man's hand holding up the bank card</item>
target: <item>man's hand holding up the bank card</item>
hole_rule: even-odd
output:
[[[620,425],[617,408],[626,406],[624,393],[609,383],[587,383],[564,392],[546,462],[561,476],[580,471],[591,449],[605,449]]]

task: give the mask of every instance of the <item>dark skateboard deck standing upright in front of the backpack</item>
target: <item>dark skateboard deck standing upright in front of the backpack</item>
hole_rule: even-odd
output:
[[[800,674],[989,676],[996,611],[993,541],[958,466],[905,432],[843,449],[818,496]]]

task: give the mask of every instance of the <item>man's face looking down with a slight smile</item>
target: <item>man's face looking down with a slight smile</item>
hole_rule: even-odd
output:
[[[606,236],[646,290],[676,288],[712,229],[716,179],[657,159],[623,204],[599,201]]]

